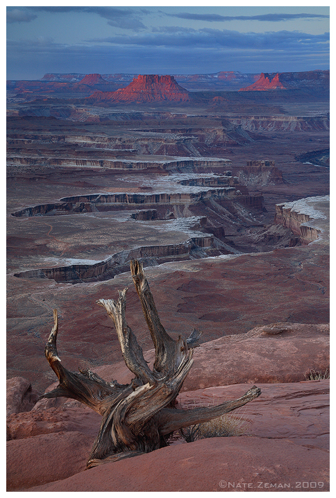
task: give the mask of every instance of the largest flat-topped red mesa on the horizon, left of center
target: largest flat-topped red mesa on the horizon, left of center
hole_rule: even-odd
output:
[[[96,101],[160,102],[189,101],[189,92],[178,85],[174,76],[143,74],[133,78],[125,88],[115,92],[94,92],[90,97]]]

